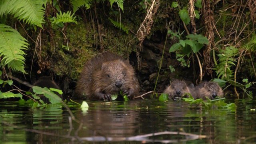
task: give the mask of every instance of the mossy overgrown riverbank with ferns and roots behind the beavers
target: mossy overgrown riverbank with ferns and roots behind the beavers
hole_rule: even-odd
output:
[[[72,95],[84,62],[106,50],[130,58],[144,90],[170,77],[214,80],[252,98],[255,8],[255,0],[0,0],[0,98],[55,103],[60,91],[20,84],[50,75]]]

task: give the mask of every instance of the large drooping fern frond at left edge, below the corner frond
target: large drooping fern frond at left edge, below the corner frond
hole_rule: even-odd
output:
[[[28,48],[28,43],[20,33],[10,26],[0,24],[0,56],[1,66],[8,66],[14,71],[25,73],[23,50]]]

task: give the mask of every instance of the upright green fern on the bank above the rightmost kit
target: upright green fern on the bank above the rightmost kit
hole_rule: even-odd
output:
[[[216,70],[218,78],[221,79],[232,79],[234,77],[234,72],[231,69],[232,66],[236,66],[235,56],[238,54],[238,48],[234,46],[226,47],[225,50],[220,50],[219,64],[216,65],[214,70]]]

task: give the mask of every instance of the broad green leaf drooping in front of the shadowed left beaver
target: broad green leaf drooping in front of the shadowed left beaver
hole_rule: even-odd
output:
[[[61,98],[54,94],[54,92],[51,92],[48,88],[44,87],[41,88],[39,86],[33,86],[32,87],[33,92],[36,94],[43,94],[46,98],[49,99],[50,103],[56,104],[61,102]]]

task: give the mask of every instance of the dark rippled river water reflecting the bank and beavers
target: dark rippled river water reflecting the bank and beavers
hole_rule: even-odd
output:
[[[75,118],[60,105],[28,106],[17,102],[0,103],[0,144],[82,143],[78,137],[105,136],[124,138],[172,131],[206,135],[164,134],[141,140],[84,143],[141,144],[178,142],[189,144],[235,144],[256,142],[256,101],[236,100],[236,110],[189,105],[185,102],[133,100],[129,102],[88,102],[88,110],[70,105]],[[44,134],[42,134],[44,133]],[[58,135],[58,136],[57,136]],[[191,140],[193,139],[194,140]],[[96,138],[94,140],[100,140]],[[164,142],[164,141],[162,141]]]

